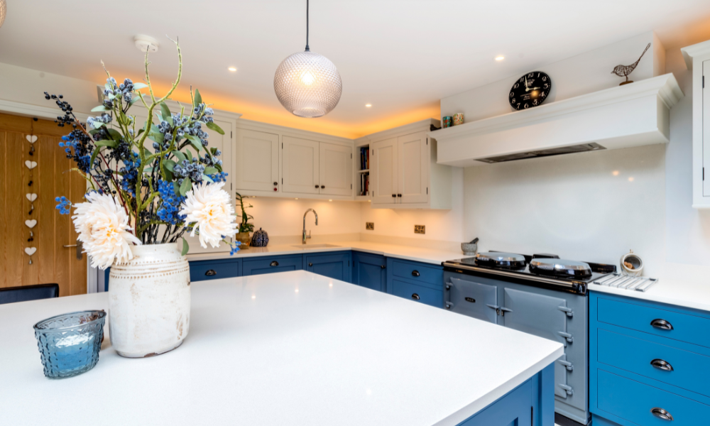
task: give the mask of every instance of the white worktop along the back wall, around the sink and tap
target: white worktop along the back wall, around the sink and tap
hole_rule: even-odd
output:
[[[442,251],[435,249],[421,249],[420,247],[398,246],[396,244],[381,244],[370,241],[336,241],[329,242],[329,247],[324,247],[326,244],[283,244],[266,247],[249,247],[249,249],[240,250],[229,256],[229,253],[204,253],[204,254],[189,254],[188,261],[209,261],[214,259],[226,258],[249,258],[258,256],[275,256],[285,254],[302,254],[302,253],[322,253],[328,251],[364,251],[365,253],[381,254],[388,257],[406,259],[409,261],[433,263],[441,265],[444,261],[452,261],[460,259],[464,256],[461,251]]]

